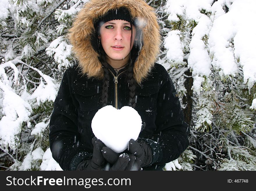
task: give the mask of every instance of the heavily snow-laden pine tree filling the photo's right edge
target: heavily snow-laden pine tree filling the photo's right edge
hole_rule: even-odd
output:
[[[192,108],[186,119],[191,122],[195,170],[255,170],[256,49],[248,35],[255,6],[250,0],[166,3],[169,67],[182,68],[184,61],[189,68],[177,84],[186,93],[185,116]]]

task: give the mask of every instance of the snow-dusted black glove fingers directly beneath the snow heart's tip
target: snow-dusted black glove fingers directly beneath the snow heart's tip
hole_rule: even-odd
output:
[[[118,154],[109,147],[102,148],[102,155],[112,166],[109,170],[139,170],[141,162],[133,154]]]

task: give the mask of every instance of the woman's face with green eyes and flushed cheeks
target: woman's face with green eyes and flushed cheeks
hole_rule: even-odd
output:
[[[132,25],[132,43],[134,44],[136,28]],[[124,60],[130,53],[131,25],[124,20],[112,20],[100,27],[102,47],[111,60]]]

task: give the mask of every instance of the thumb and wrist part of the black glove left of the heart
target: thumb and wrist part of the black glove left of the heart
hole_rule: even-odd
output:
[[[92,139],[93,143],[93,158],[84,160],[78,164],[77,170],[101,170],[104,166],[105,160],[102,156],[101,149],[104,143],[96,137]]]

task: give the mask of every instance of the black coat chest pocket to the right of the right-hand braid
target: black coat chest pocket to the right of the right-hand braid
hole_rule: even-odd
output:
[[[137,102],[136,108],[138,110],[153,111],[156,109],[158,86],[143,86],[142,88],[137,88]]]

